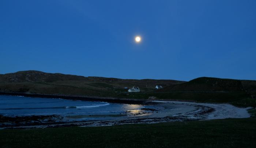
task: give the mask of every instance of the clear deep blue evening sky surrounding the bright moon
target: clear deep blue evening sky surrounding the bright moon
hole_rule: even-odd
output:
[[[23,70],[256,80],[256,1],[1,0],[0,73]]]

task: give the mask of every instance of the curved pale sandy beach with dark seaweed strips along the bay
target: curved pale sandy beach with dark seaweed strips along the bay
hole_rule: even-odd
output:
[[[57,99],[60,97],[58,96]],[[69,98],[70,99],[70,98]],[[93,100],[95,101],[95,100]],[[106,101],[106,100],[104,100]],[[123,101],[123,100],[121,100]],[[114,103],[117,103],[116,101]],[[147,107],[137,110],[136,112],[128,112],[126,116],[113,117],[112,119],[101,120],[79,120],[65,121],[64,116],[25,116],[7,117],[0,116],[4,128],[46,128],[46,127],[95,127],[95,126],[111,126],[121,124],[151,124],[173,121],[191,121],[191,120],[213,120],[226,118],[247,118],[250,117],[247,109],[238,108],[230,104],[213,104],[213,103],[195,103],[184,101],[162,101],[148,100],[143,102]],[[187,108],[172,108],[172,105],[185,105]],[[151,108],[150,108],[151,106]],[[153,107],[163,107],[164,109],[156,110]],[[148,108],[149,107],[149,108]],[[185,110],[185,111],[184,111]],[[129,116],[128,116],[129,114]],[[10,119],[8,119],[10,118]],[[5,120],[5,123],[3,122]],[[12,123],[10,121],[13,121]]]

